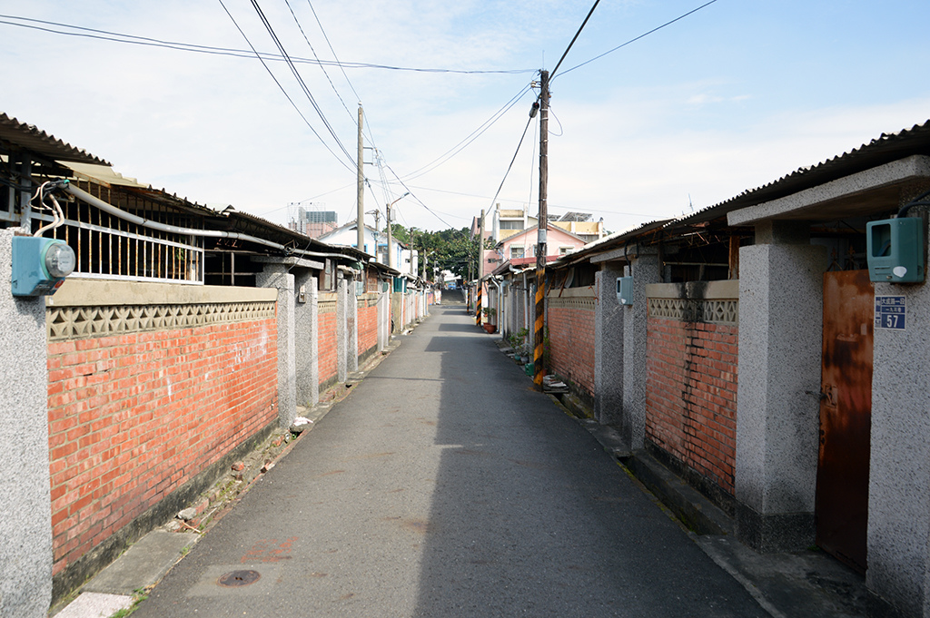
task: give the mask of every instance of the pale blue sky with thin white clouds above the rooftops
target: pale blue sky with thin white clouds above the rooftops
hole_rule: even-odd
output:
[[[926,0],[707,1],[594,9],[551,80],[551,215],[627,230],[930,119]],[[398,200],[405,227],[462,228],[495,204],[537,212],[538,71],[592,4],[0,0],[0,112],[154,188],[286,225],[298,206],[355,218],[361,102],[365,211],[383,226]],[[321,60],[295,61],[305,89],[256,58],[278,51],[261,16],[289,57]]]

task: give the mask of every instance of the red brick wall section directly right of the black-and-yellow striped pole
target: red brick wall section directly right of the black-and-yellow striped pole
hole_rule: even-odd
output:
[[[588,396],[594,394],[594,309],[555,306],[547,313],[552,373],[571,380]]]

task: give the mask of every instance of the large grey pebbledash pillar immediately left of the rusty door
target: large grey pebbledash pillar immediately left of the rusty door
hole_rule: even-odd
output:
[[[814,542],[828,260],[807,238],[804,224],[762,223],[739,250],[737,536],[759,551]]]

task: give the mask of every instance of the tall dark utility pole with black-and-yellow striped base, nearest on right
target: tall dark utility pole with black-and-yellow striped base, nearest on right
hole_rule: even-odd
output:
[[[546,319],[546,231],[549,228],[549,72],[539,72],[539,235],[536,244],[536,323],[534,328],[533,382],[542,388],[543,329]]]

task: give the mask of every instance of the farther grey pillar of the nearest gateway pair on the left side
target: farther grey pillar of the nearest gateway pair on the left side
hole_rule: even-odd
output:
[[[312,407],[320,401],[319,294],[313,271],[300,269],[294,276],[294,285],[297,288],[294,306],[297,402]]]

